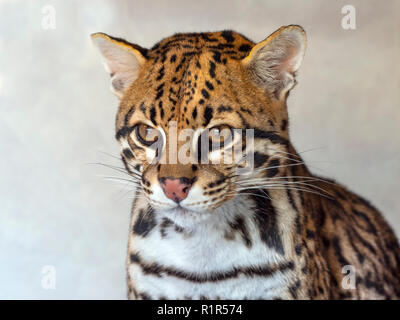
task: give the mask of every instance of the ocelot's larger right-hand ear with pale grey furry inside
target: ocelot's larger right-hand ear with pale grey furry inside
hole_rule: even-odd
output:
[[[306,43],[302,27],[281,27],[256,44],[242,63],[260,87],[275,98],[284,99],[296,84],[296,71],[303,60]]]

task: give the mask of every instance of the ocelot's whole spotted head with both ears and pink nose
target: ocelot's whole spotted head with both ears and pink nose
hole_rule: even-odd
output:
[[[258,44],[233,31],[175,34],[151,49],[92,39],[120,99],[123,162],[156,212],[207,217],[281,174],[301,27]]]

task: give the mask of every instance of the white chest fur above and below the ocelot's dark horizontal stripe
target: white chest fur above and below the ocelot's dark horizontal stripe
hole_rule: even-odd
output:
[[[182,210],[180,210],[182,211]],[[156,263],[166,268],[181,270],[189,274],[211,274],[229,272],[233,268],[276,266],[287,262],[285,257],[269,248],[260,239],[260,232],[251,218],[251,204],[246,198],[237,197],[228,201],[202,219],[186,217],[185,212],[156,212],[158,222],[165,216],[185,228],[184,232],[166,230],[160,232],[160,224],[146,236],[130,238],[130,253],[138,253],[141,261]],[[191,215],[196,213],[190,212]],[[224,238],[229,230],[228,222],[240,214],[245,219],[252,246],[245,245],[238,232],[234,239]],[[202,214],[199,214],[202,216]],[[153,298],[184,299],[201,296],[222,299],[271,299],[282,296],[293,273],[290,270],[276,272],[269,277],[243,274],[216,282],[192,282],[175,276],[144,274],[138,264],[130,264],[128,272],[138,292]]]

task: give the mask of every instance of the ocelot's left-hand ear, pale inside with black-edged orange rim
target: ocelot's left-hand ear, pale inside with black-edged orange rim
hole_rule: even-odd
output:
[[[146,61],[147,49],[104,33],[94,33],[91,38],[99,48],[105,68],[110,73],[111,91],[121,99],[137,79],[140,67]]]

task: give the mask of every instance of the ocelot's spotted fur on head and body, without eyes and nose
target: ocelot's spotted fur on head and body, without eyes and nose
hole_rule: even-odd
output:
[[[305,46],[300,27],[259,44],[233,31],[175,34],[151,49],[93,39],[121,99],[116,138],[137,187],[130,299],[400,297],[400,249],[382,215],[313,175],[290,142],[286,98]],[[253,172],[237,175],[240,164],[150,163],[135,127],[166,138],[171,121],[178,132],[253,129]],[[163,194],[163,177],[192,183],[180,207]],[[354,288],[344,284],[346,266],[356,272]]]

